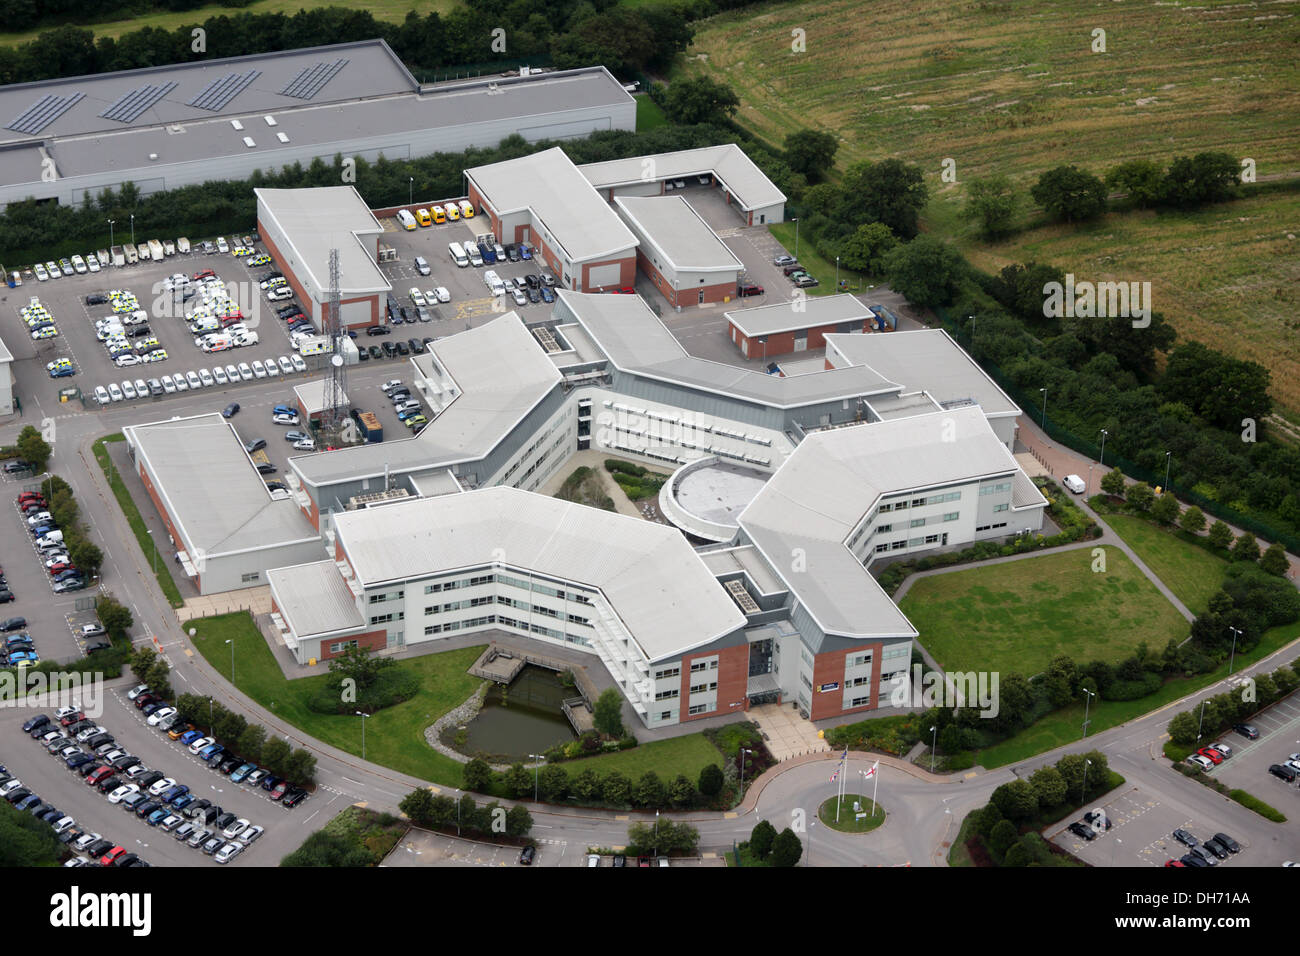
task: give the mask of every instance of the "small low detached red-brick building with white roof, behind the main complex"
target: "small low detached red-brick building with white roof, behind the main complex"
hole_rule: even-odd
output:
[[[727,312],[723,317],[727,337],[741,355],[767,360],[824,349],[827,333],[870,332],[875,316],[854,295],[800,295],[775,306]]]

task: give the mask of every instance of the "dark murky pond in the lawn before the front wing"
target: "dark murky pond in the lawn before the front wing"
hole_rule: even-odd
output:
[[[442,743],[460,753],[482,754],[493,763],[528,762],[528,754],[576,736],[560,710],[566,697],[576,696],[558,674],[529,665],[508,687],[491,687],[478,715],[463,731],[443,731]]]

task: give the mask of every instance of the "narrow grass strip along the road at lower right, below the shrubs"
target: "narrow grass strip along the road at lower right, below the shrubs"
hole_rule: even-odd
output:
[[[1300,637],[1300,622],[1265,631],[1264,637],[1260,639],[1260,643],[1254,648],[1244,653],[1238,652],[1236,663],[1234,666],[1236,670],[1248,667],[1279,648],[1286,646],[1297,637]],[[1152,648],[1153,650],[1158,650],[1156,645],[1152,645]],[[1141,697],[1140,700],[1132,701],[1095,701],[1088,713],[1088,719],[1091,722],[1088,724],[1088,736],[1100,734],[1110,727],[1117,727],[1121,723],[1132,721],[1143,714],[1149,714],[1153,710],[1160,710],[1166,704],[1182,700],[1187,695],[1195,693],[1202,687],[1209,687],[1226,676],[1227,661],[1221,663],[1209,674],[1199,674],[1191,679],[1179,678],[1178,680],[1170,680],[1149,697]],[[1169,711],[1170,719],[1173,719],[1175,713],[1175,710]],[[1062,747],[1063,744],[1079,740],[1082,735],[1083,701],[1079,701],[1078,704],[1071,704],[1061,710],[1053,710],[1050,714],[1037,721],[1032,727],[1027,727],[1000,744],[978,750],[975,754],[975,762],[992,770],[993,767],[1015,763],[1017,761],[1026,760],[1027,757],[1032,757],[1037,753],[1052,750],[1057,747]]]

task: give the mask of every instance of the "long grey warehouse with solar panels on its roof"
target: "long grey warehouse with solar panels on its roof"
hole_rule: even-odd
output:
[[[0,207],[634,130],[603,66],[421,85],[380,39],[0,87]]]

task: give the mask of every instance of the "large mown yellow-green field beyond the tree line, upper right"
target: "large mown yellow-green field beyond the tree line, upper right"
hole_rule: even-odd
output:
[[[1091,51],[1106,33],[1106,53]],[[792,51],[792,31],[806,52]],[[1271,193],[1192,215],[1122,213],[1035,228],[985,246],[961,219],[962,182],[1096,173],[1201,150],[1248,156],[1261,179],[1300,173],[1300,16],[1292,5],[1060,0],[771,4],[699,25],[682,73],[725,79],[740,121],[780,143],[815,127],[840,164],[900,157],[930,174],[924,226],[979,267],[1039,259],[1093,280],[1150,281],[1156,308],[1197,338],[1274,372],[1300,408],[1300,196]],[[940,179],[945,159],[957,183]]]

